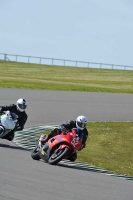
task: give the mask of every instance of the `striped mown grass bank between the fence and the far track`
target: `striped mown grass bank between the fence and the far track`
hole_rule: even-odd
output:
[[[0,87],[133,93],[133,71],[0,61]]]

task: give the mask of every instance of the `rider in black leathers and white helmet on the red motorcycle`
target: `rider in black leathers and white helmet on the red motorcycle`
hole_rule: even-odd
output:
[[[78,129],[82,130],[82,134],[83,134],[82,147],[79,149],[79,151],[80,151],[83,148],[85,148],[86,140],[87,140],[87,137],[89,135],[89,132],[86,128],[87,122],[88,122],[87,118],[83,115],[78,116],[76,120],[69,120],[64,124],[61,124],[59,126],[59,128],[53,129],[48,134],[48,136],[46,136],[44,134],[41,135],[41,137],[39,139],[40,145],[41,146],[44,145],[51,137],[58,135],[61,132],[64,132],[64,133],[67,134],[67,132],[71,131],[73,128],[78,128]],[[76,151],[71,156],[69,156],[67,159],[70,160],[70,161],[75,161],[77,159]]]

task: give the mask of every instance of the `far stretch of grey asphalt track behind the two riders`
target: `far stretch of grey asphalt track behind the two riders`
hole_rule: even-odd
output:
[[[0,105],[29,102],[26,125],[60,123],[84,114],[89,121],[132,121],[133,94],[0,88]]]

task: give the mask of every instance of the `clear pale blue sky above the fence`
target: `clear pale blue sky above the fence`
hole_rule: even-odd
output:
[[[133,66],[133,0],[0,0],[0,53]]]

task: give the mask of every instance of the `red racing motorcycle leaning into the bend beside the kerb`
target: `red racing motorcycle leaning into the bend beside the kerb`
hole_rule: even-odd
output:
[[[82,131],[78,128],[71,132],[61,133],[48,140],[42,147],[38,145],[31,151],[34,160],[43,159],[51,165],[55,165],[63,159],[70,157],[82,146]]]

